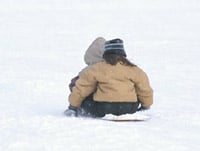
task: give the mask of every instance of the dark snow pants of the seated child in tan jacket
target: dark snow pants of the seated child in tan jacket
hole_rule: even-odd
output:
[[[92,117],[103,117],[106,114],[132,114],[138,110],[139,102],[97,102],[89,95],[81,104],[84,112]]]

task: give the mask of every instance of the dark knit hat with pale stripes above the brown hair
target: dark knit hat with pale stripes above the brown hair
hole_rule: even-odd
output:
[[[118,54],[126,57],[126,52],[124,50],[123,40],[117,38],[113,40],[106,41],[104,44],[104,54]]]

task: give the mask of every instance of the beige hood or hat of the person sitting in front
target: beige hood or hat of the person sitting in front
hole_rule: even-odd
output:
[[[104,43],[105,39],[102,37],[96,38],[84,55],[84,61],[87,65],[92,65],[103,61]]]

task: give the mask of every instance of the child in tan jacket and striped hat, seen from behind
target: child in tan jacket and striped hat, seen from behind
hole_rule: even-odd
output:
[[[153,90],[148,77],[126,58],[121,39],[105,42],[103,59],[80,73],[69,95],[70,106],[65,114],[103,117],[149,109],[153,104]]]

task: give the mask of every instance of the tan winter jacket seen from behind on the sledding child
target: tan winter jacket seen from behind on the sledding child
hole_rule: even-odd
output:
[[[94,92],[98,102],[136,102],[150,107],[153,90],[144,71],[139,67],[96,63],[83,71],[69,96],[71,105],[79,107],[89,94]]]

